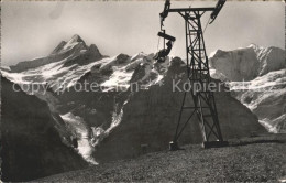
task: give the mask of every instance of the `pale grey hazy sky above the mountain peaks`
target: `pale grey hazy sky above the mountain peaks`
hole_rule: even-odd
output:
[[[215,1],[172,1],[172,8],[215,7]],[[164,1],[3,1],[1,65],[48,55],[61,41],[78,34],[105,55],[154,53]],[[206,13],[202,26],[209,19]],[[164,29],[177,40],[170,55],[186,57],[185,22],[169,13]],[[207,52],[255,43],[285,47],[283,2],[227,2],[205,32]],[[160,45],[160,46],[158,46]]]

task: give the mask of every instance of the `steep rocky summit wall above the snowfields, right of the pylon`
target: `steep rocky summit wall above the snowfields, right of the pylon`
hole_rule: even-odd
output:
[[[251,44],[233,51],[211,53],[210,66],[232,82],[251,80],[272,71],[286,67],[286,52],[279,47],[261,47]]]

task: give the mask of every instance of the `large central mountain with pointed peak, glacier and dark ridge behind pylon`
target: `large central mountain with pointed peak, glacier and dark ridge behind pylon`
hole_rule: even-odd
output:
[[[78,153],[96,163],[166,149],[173,140],[184,94],[173,86],[186,80],[186,65],[179,57],[158,64],[153,56],[102,56],[96,45],[87,46],[75,35],[48,56],[1,73],[13,83],[30,86],[23,90],[45,100],[63,120],[56,126],[59,134],[76,134]],[[32,93],[35,84],[41,87]],[[226,139],[265,132],[256,116],[229,92],[218,92],[216,97]],[[190,142],[201,142],[196,118],[180,138],[182,144]]]

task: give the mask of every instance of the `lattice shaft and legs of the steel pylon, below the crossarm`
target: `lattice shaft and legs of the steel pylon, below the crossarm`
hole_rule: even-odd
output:
[[[204,144],[208,148],[211,144],[209,143],[211,138],[217,139],[219,142],[222,142],[223,138],[220,130],[213,92],[208,88],[210,83],[209,63],[200,22],[204,11],[179,13],[185,19],[187,77],[193,88],[184,93],[174,142],[177,142],[178,137],[191,117],[197,116],[200,122]],[[196,86],[200,86],[200,88],[198,89]],[[194,106],[186,106],[188,95],[191,96]],[[182,119],[183,112],[189,114],[185,123],[182,123],[184,122]]]

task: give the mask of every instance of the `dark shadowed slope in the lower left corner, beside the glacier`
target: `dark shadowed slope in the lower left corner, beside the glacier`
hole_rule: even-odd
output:
[[[57,117],[45,101],[14,92],[3,77],[1,83],[2,181],[31,181],[87,165],[62,142],[54,127]]]

